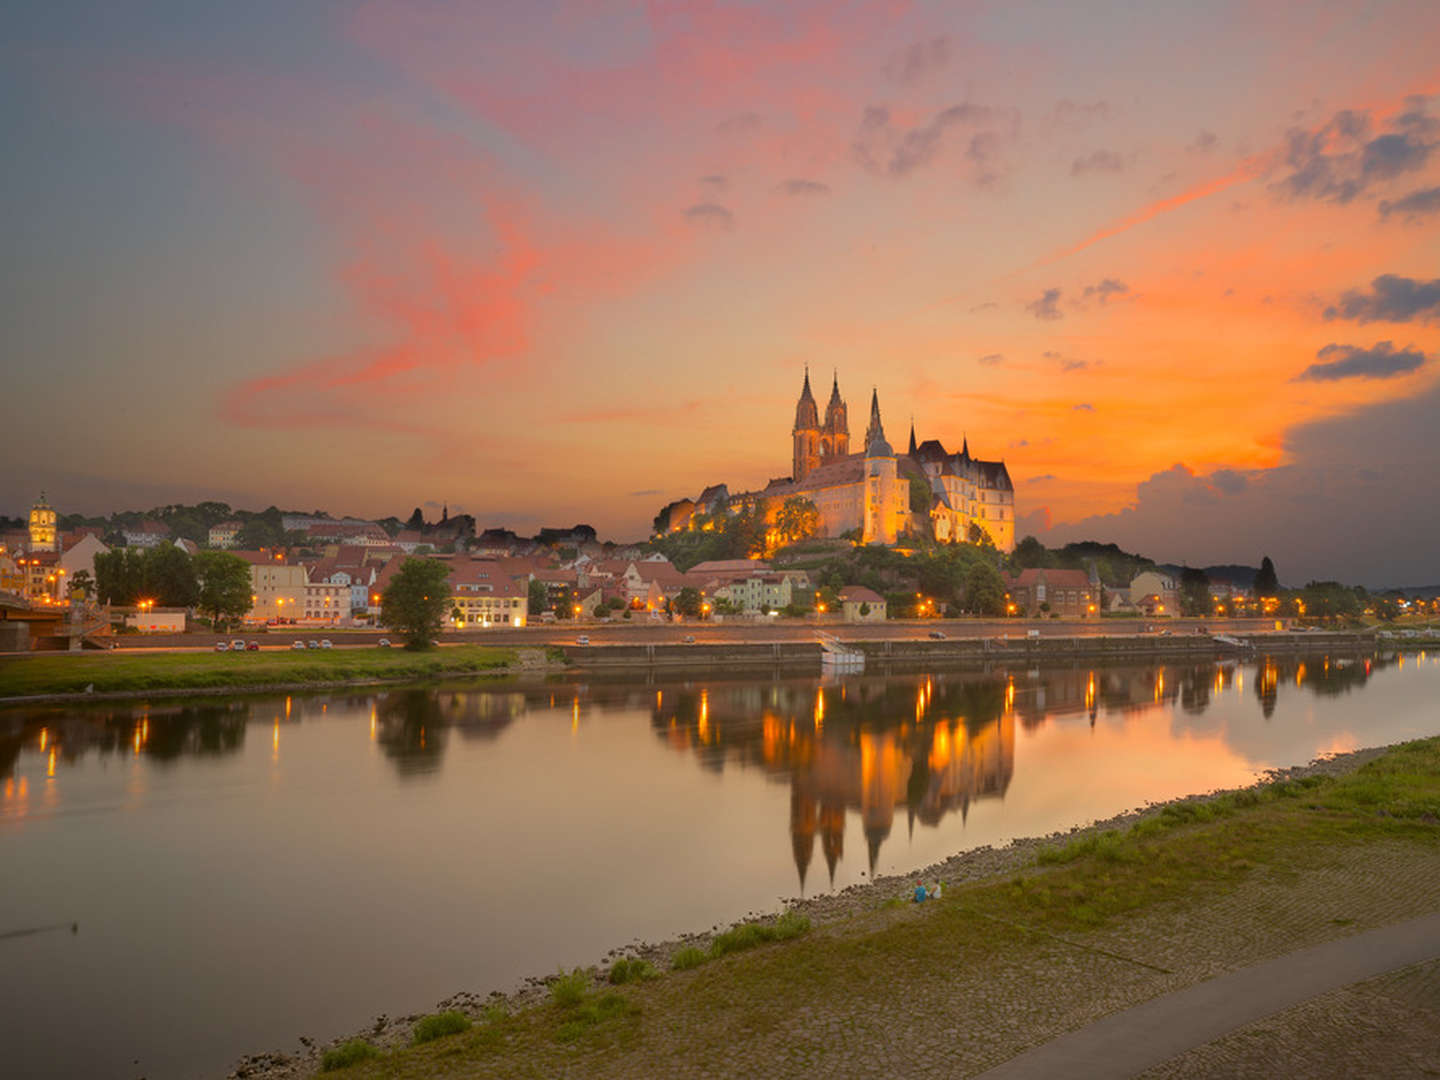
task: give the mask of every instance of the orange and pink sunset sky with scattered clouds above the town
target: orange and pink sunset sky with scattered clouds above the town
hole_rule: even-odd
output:
[[[1440,4],[56,0],[0,42],[0,511],[636,539],[852,436],[1020,528],[1440,579]]]

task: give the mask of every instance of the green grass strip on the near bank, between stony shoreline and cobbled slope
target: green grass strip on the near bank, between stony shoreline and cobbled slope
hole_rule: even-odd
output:
[[[780,1031],[798,1009],[844,1030],[861,1009],[894,1008],[917,981],[1043,952],[1045,933],[1083,940],[1132,916],[1182,914],[1257,868],[1300,881],[1338,850],[1371,842],[1440,848],[1440,739],[1391,750],[1341,779],[1172,805],[1125,832],[1047,851],[1037,873],[952,888],[924,909],[893,900],[694,971],[589,991],[579,1005],[491,1011],[464,1034],[380,1053],[338,1076],[642,1076],[680,1063],[730,1071],[737,1044]],[[793,1047],[801,1060],[811,1050]]]

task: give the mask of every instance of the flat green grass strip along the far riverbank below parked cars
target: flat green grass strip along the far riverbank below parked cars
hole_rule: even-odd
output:
[[[408,652],[405,649],[325,649],[307,652],[163,652],[26,657],[0,661],[0,697],[65,694],[94,684],[121,690],[199,690],[276,683],[348,683],[370,678],[423,678],[505,667],[514,649],[485,645]]]

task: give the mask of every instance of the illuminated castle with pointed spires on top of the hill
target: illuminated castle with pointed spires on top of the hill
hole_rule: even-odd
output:
[[[864,449],[851,454],[848,408],[840,396],[838,376],[821,420],[806,370],[791,438],[789,477],[736,495],[723,484],[708,487],[696,500],[684,498],[661,510],[657,531],[677,531],[688,527],[696,513],[736,510],[750,501],[773,521],[785,500],[798,495],[819,511],[821,536],[854,533],[867,544],[930,536],[943,543],[966,540],[971,526],[976,526],[999,550],[1015,547],[1015,487],[1005,462],[972,458],[968,439],[962,439],[958,454],[946,451],[939,439],[917,442],[913,422],[909,449],[896,454],[880,419],[878,392],[870,395]]]

